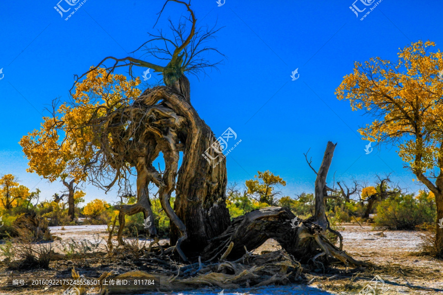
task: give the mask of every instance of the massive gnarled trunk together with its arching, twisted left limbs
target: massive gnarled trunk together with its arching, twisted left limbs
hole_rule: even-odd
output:
[[[182,81],[179,85],[183,87],[186,83]],[[179,253],[181,245],[187,254],[198,254],[209,239],[221,234],[230,223],[225,203],[225,159],[218,154],[222,161],[214,165],[202,156],[216,138],[187,97],[176,89],[147,89],[131,108],[143,114],[145,120],[143,133],[149,134],[149,138],[141,136],[138,140],[146,150],[137,147],[136,151],[145,159],[142,165],[148,170],[145,183],[158,186],[161,206],[171,220],[171,244],[176,245]],[[180,151],[183,151],[183,160],[178,169]],[[161,173],[152,166],[159,152],[165,162]],[[142,173],[143,170],[137,168],[139,177]],[[138,196],[146,185],[137,185]],[[176,200],[172,209],[169,200],[174,190]],[[181,256],[186,260],[183,253]]]

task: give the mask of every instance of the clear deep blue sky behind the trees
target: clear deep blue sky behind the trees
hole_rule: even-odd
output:
[[[383,0],[360,21],[369,8],[357,18],[349,9],[352,2],[226,0],[218,7],[216,0],[192,1],[198,24],[224,27],[213,42],[226,55],[224,63],[208,77],[191,76],[190,83],[192,104],[215,134],[231,127],[242,140],[227,156],[230,182],[270,170],[286,180],[286,195],[312,192],[315,175],[303,153],[311,148],[318,167],[330,140],[338,143],[330,183],[334,172],[342,180],[368,182],[391,172],[402,187],[417,189],[395,148],[365,154],[367,142],[356,130],[370,118],[351,112],[334,91],[356,60],[395,60],[399,48],[419,39],[443,49],[443,3]],[[20,138],[39,127],[52,99],[68,99],[74,74],[107,56],[126,57],[148,40],[163,5],[162,0],[87,0],[65,21],[54,9],[57,3],[5,1],[0,10],[0,174],[12,173],[40,188],[42,199],[63,186],[26,172]],[[60,4],[67,9],[64,0]],[[183,7],[169,3],[156,28],[182,14]],[[296,68],[300,77],[291,81]],[[92,186],[86,192],[87,201],[116,201],[112,192],[105,195]]]

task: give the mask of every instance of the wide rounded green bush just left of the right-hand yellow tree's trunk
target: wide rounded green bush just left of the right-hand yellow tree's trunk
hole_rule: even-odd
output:
[[[393,230],[412,230],[422,223],[434,223],[436,206],[434,200],[421,194],[401,195],[381,201],[374,218],[376,227]]]

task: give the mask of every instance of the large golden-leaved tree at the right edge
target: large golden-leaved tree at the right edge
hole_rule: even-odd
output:
[[[401,49],[397,61],[355,62],[337,88],[338,99],[374,120],[359,129],[365,140],[395,145],[405,167],[435,195],[443,218],[443,69],[435,43],[418,41]],[[443,256],[443,229],[436,225],[435,247]]]

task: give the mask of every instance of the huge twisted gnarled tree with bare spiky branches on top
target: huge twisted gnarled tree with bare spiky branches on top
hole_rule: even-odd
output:
[[[150,39],[133,52],[139,58],[107,57],[98,62],[87,73],[77,77],[73,96],[84,92],[86,99],[89,90],[99,87],[90,82],[82,84],[83,78],[90,80],[90,75],[95,73],[110,78],[115,69],[126,67],[131,81],[137,80],[133,76],[134,67],[150,68],[161,74],[164,86],[146,89],[139,97],[124,97],[90,109],[88,126],[95,131],[93,142],[98,148],[88,169],[100,172],[97,174],[100,180],[106,179],[103,174],[112,174],[114,177],[105,185],[108,188],[127,178],[125,174],[129,170],[136,170],[133,174],[137,177],[138,200],[131,206],[116,207],[122,214],[137,211],[149,214],[151,206],[143,196],[148,195],[149,183],[154,183],[158,187],[160,203],[171,220],[171,243],[187,260],[181,248],[188,252],[200,251],[209,239],[221,234],[229,225],[223,150],[211,128],[192,106],[190,82],[186,76],[217,65],[218,62],[210,63],[206,58],[208,53],[218,53],[215,48],[207,46],[217,29],[196,28],[197,19],[190,4],[179,0],[165,1],[158,17],[169,2],[183,5],[189,17],[183,18],[177,25],[171,21],[170,35],[162,30],[150,34]],[[105,68],[106,73],[103,75],[99,68]],[[77,107],[81,108],[83,102],[80,96],[74,99]],[[183,152],[183,159],[178,169],[180,152]],[[162,172],[153,165],[160,153],[165,162]],[[214,165],[202,156],[205,153],[213,159],[220,157],[222,160]],[[99,166],[101,169],[95,169]],[[174,191],[176,198],[172,209],[169,200]],[[156,236],[154,226],[149,232]]]

